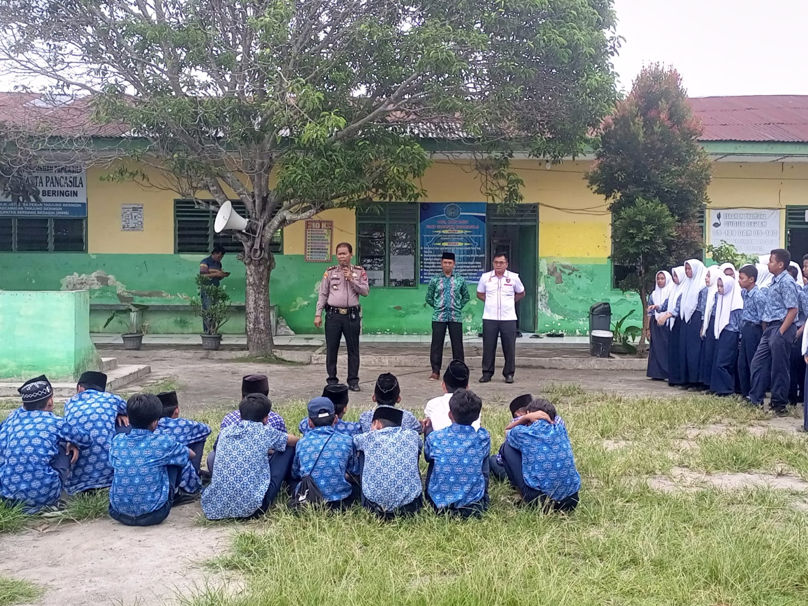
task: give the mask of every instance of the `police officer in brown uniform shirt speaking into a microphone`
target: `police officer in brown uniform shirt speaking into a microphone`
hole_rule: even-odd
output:
[[[345,335],[348,350],[348,389],[359,388],[359,333],[362,307],[359,296],[368,296],[368,273],[358,265],[351,265],[353,247],[347,242],[337,245],[339,265],[332,265],[322,275],[320,296],[317,300],[317,315],[314,326],[322,325],[322,312],[326,311],[326,370],[327,383],[339,383],[337,379],[337,354],[339,341]]]

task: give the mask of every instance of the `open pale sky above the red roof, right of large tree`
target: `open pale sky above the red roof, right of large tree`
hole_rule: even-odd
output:
[[[805,0],[615,0],[614,60],[631,88],[642,65],[675,67],[688,95],[808,95]]]

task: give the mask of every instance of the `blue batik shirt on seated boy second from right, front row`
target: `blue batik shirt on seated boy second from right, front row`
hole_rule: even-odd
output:
[[[427,494],[436,507],[488,503],[488,457],[491,436],[485,429],[452,423],[432,431],[423,458],[432,463]]]

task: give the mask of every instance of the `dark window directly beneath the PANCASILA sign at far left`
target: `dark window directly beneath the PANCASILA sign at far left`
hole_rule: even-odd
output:
[[[0,250],[85,252],[86,218],[0,217]]]

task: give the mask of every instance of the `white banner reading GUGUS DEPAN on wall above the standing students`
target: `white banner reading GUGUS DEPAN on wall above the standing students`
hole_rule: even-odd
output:
[[[745,255],[768,255],[780,248],[780,211],[776,208],[710,208],[709,243],[724,240]]]

